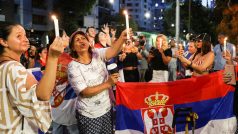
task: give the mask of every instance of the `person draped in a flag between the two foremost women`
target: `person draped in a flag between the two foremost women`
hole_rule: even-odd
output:
[[[54,30],[48,33],[49,44],[55,38]],[[60,37],[69,40],[66,32],[60,30]],[[51,96],[52,107],[52,133],[53,134],[78,134],[77,120],[75,117],[75,101],[77,96],[67,79],[67,67],[72,58],[68,53],[62,53],[58,58],[55,87]]]

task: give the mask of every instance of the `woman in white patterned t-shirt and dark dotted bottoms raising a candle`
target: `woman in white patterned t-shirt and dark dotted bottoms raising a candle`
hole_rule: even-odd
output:
[[[71,35],[69,47],[73,61],[68,65],[68,80],[76,94],[76,118],[80,134],[112,133],[109,89],[118,73],[108,75],[105,62],[115,57],[126,40],[126,31],[111,47],[92,49],[82,31]]]

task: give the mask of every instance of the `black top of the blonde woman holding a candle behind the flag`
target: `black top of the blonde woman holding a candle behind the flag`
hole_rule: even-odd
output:
[[[168,70],[168,65],[165,65],[162,59],[162,55],[158,49],[153,50],[154,58],[151,59],[151,67],[153,70]],[[172,57],[171,49],[166,49],[164,51],[165,56]]]

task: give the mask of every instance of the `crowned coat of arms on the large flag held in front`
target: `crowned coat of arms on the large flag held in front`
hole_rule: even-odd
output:
[[[172,133],[174,108],[166,105],[169,96],[156,92],[145,98],[148,108],[142,108],[142,119],[146,134]]]

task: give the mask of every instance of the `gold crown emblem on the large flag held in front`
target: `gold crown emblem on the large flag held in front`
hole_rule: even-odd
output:
[[[149,107],[161,106],[165,105],[168,100],[169,96],[156,92],[155,94],[146,97],[145,103],[149,105]]]

